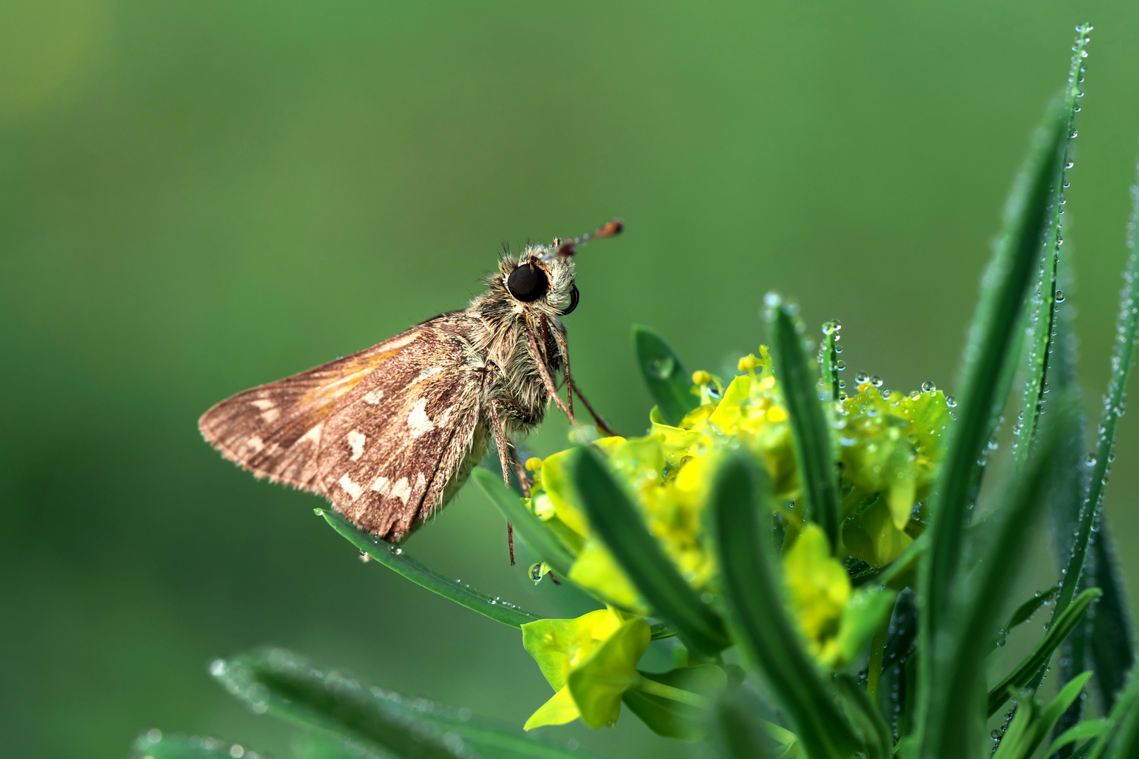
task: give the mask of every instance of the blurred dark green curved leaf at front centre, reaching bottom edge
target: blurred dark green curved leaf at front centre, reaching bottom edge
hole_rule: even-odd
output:
[[[723,595],[739,647],[762,675],[795,725],[811,759],[849,758],[861,748],[853,728],[830,699],[784,610],[779,580],[768,555],[771,536],[760,514],[770,514],[767,472],[741,456],[716,475],[711,501]],[[770,525],[770,522],[769,522]]]

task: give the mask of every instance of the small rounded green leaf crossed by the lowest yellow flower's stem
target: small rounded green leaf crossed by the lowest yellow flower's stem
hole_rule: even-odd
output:
[[[715,701],[728,685],[728,676],[715,665],[681,667],[666,673],[640,673],[641,677]],[[681,741],[699,741],[707,732],[708,710],[653,693],[625,691],[625,706],[650,731]]]

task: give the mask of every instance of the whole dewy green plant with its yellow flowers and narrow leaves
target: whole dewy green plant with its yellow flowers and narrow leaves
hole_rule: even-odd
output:
[[[538,559],[535,579],[552,570],[596,600],[597,609],[574,619],[503,603],[318,511],[383,566],[521,632],[552,691],[524,729],[408,701],[281,650],[215,662],[214,675],[254,711],[301,726],[303,753],[313,759],[562,759],[582,753],[524,731],[575,720],[603,728],[626,709],[658,735],[707,740],[723,759],[978,758],[990,745],[986,719],[1009,698],[1016,707],[994,759],[1039,757],[1050,733],[1058,735],[1048,754],[1139,754],[1139,677],[1122,673],[1133,659],[1130,614],[1106,542],[1092,541],[1139,333],[1133,239],[1104,421],[1087,464],[1073,459],[1081,434],[1074,364],[1049,374],[1062,300],[1063,172],[1088,31],[1079,28],[1065,96],[1014,185],[967,339],[960,404],[932,382],[891,393],[860,374],[846,388],[837,321],[823,324],[817,376],[797,308],[773,294],[764,303],[770,350],[740,357],[726,380],[687,374],[658,335],[636,328],[656,403],[646,435],[530,460],[527,497],[490,471],[473,475]],[[974,510],[1017,366],[1025,381],[1018,445],[1006,480],[992,488],[999,497]],[[1041,415],[1050,377],[1058,381]],[[1085,486],[1080,467],[1089,465]],[[1066,567],[998,627],[1048,502],[1060,504],[1063,531],[1075,531]],[[1097,599],[1107,632],[1089,638],[1091,658],[1111,698],[1106,715],[1080,721],[1091,671],[1067,671],[1070,661],[1055,699],[1046,704],[1038,691],[1065,641],[1095,630],[1084,620]],[[988,682],[1005,666],[990,657],[1054,601],[1047,633]],[[671,635],[675,667],[640,670],[650,641]],[[728,663],[731,655],[745,668]],[[865,679],[855,676],[863,662]],[[144,736],[136,750],[190,759],[218,756],[215,748]]]

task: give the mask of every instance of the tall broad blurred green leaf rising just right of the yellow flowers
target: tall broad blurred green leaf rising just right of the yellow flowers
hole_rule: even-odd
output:
[[[959,413],[950,427],[948,451],[929,504],[931,546],[925,552],[919,581],[920,655],[925,673],[934,671],[934,638],[941,633],[959,571],[965,517],[977,481],[977,460],[988,444],[991,420],[1005,405],[1005,398],[998,397],[998,387],[1006,372],[1017,315],[1039,259],[1048,196],[1067,140],[1066,115],[1054,108],[1033,139],[1025,168],[1006,206],[1003,233],[982,279],[981,298],[965,348]],[[977,621],[985,620],[978,618]],[[977,644],[984,645],[984,642]],[[967,669],[973,673],[972,666]],[[941,688],[943,683],[936,682],[936,685]],[[919,703],[931,703],[934,686],[933,677],[921,678]],[[959,695],[964,698],[965,694]],[[919,716],[919,721],[926,720]],[[934,744],[943,740],[940,729],[935,729]],[[956,737],[962,740],[960,735]],[[944,734],[944,739],[948,740],[949,734]],[[940,752],[942,749],[934,749],[934,744],[928,744],[931,751]]]

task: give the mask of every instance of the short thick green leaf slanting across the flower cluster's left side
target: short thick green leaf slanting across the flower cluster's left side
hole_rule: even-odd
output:
[[[590,526],[613,553],[656,614],[686,644],[714,657],[730,645],[723,620],[700,601],[649,535],[637,508],[589,448],[577,448],[570,461],[574,488]]]

